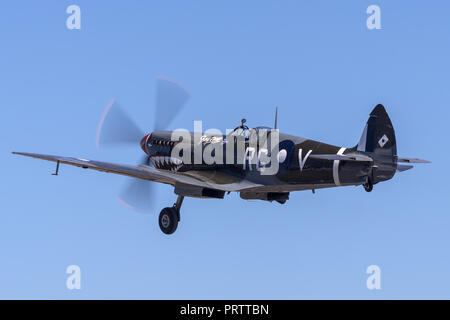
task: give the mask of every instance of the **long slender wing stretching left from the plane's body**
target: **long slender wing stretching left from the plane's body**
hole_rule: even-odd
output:
[[[170,184],[173,186],[175,186],[176,184],[183,184],[194,187],[217,189],[221,191],[240,191],[246,188],[259,186],[259,184],[254,184],[245,180],[230,181],[230,183],[219,184],[208,180],[207,177],[203,175],[194,175],[189,173],[159,170],[145,165],[132,166],[110,162],[87,160],[81,158],[70,158],[70,157],[52,156],[26,152],[13,152],[13,154],[58,162],[61,164],[68,164],[83,169],[92,169],[96,171],[110,172],[124,176]]]

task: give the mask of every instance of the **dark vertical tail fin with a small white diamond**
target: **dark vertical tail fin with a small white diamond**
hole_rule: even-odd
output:
[[[394,176],[397,169],[395,131],[383,105],[377,105],[370,113],[356,149],[369,153],[374,159],[372,172],[374,183]]]

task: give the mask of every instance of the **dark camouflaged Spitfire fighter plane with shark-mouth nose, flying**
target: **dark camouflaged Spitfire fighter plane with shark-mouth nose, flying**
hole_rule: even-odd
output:
[[[173,109],[178,110],[184,105],[188,96],[184,88],[169,79],[160,78],[158,81],[160,87],[158,99],[159,105],[164,106],[162,109],[167,109],[168,105],[173,104],[176,105]],[[168,88],[170,90],[167,90]],[[166,98],[161,98],[164,94]],[[370,113],[357,145],[349,148],[278,133],[278,112],[275,113],[273,128],[250,129],[245,125],[246,120],[242,119],[241,124],[226,135],[201,135],[200,142],[195,139],[189,141],[190,146],[193,147],[191,154],[183,155],[188,159],[194,158],[196,143],[200,143],[201,150],[204,150],[205,147],[214,143],[219,144],[221,148],[226,148],[230,144],[237,145],[242,142],[244,154],[242,152],[239,154],[238,150],[234,149],[232,157],[235,161],[232,163],[224,161],[222,164],[208,164],[203,160],[200,163],[183,161],[186,157],[181,157],[180,154],[174,155],[174,149],[183,141],[174,140],[173,131],[157,129],[142,135],[114,101],[107,107],[100,122],[97,145],[103,134],[105,119],[113,118],[111,114],[114,113],[122,124],[116,126],[116,129],[120,128],[120,130],[114,130],[115,125],[111,121],[113,125],[105,141],[119,144],[139,143],[145,153],[142,164],[125,165],[25,152],[13,152],[13,154],[56,162],[54,175],[58,175],[60,164],[67,164],[132,177],[127,191],[120,198],[122,202],[130,206],[133,206],[133,201],[139,203],[139,199],[148,201],[150,198],[151,192],[142,183],[148,186],[147,182],[152,181],[173,186],[177,200],[173,206],[163,208],[158,219],[160,229],[165,234],[172,234],[177,229],[180,209],[185,197],[223,199],[226,193],[238,192],[245,200],[276,201],[284,204],[289,199],[290,192],[301,190],[312,190],[314,193],[321,188],[361,185],[365,191],[371,192],[375,184],[390,180],[396,172],[411,169],[413,167],[411,163],[430,163],[427,160],[397,155],[394,128],[381,104],[378,104]],[[165,119],[167,125],[171,119],[170,117]],[[155,128],[157,127],[158,125],[155,125]],[[247,161],[250,160],[250,137],[262,130],[266,130],[269,135],[278,133],[277,148],[270,149],[277,150],[276,157],[271,158],[276,159],[278,164],[278,170],[274,174],[264,174],[264,170],[259,170],[266,164],[261,164],[259,161],[256,163]],[[194,135],[193,132],[189,134]],[[238,163],[236,159],[241,157],[243,163]]]

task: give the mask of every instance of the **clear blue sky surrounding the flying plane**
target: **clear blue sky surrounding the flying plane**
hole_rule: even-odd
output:
[[[68,30],[66,8],[81,8]],[[366,8],[381,8],[381,30]],[[3,1],[0,5],[0,298],[450,298],[450,21],[446,1]],[[111,98],[153,124],[155,79],[192,96],[172,128],[271,125],[354,146],[385,105],[398,152],[431,160],[366,193],[291,194],[285,205],[185,199],[172,236],[159,210],[121,206],[126,178],[11,151],[133,164],[97,149]],[[81,290],[65,286],[79,265]],[[381,290],[366,288],[369,265]]]

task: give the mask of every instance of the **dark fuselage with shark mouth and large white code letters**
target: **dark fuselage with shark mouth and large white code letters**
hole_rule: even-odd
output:
[[[278,170],[273,174],[267,174],[267,163],[259,159],[263,148],[256,147],[255,150],[251,150],[249,139],[244,138],[243,147],[239,148],[238,141],[242,137],[200,134],[195,139],[194,133],[189,134],[192,138],[189,141],[190,148],[186,148],[190,150],[189,157],[186,157],[183,152],[177,152],[176,148],[179,150],[185,142],[174,141],[172,131],[153,132],[142,140],[141,146],[155,167],[161,170],[185,173],[214,184],[239,183],[245,180],[267,186],[272,191],[274,187],[278,188],[280,192],[360,185],[366,181],[370,171],[370,165],[367,163],[330,161],[310,157],[311,154],[342,155],[355,152],[355,147],[343,148],[279,133],[279,144],[276,149]],[[188,145],[185,144],[185,146]],[[227,153],[227,148],[231,148],[232,152]],[[199,150],[202,154],[211,153],[211,150],[216,152],[222,150],[223,159],[218,161],[219,163],[208,162],[208,159],[199,161],[194,155]],[[213,155],[215,155],[214,152]]]

